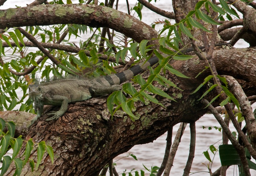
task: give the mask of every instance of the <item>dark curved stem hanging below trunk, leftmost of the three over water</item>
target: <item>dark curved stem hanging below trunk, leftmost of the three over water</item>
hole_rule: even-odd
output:
[[[156,173],[156,176],[161,176],[162,173],[164,172],[164,169],[166,167],[166,164],[167,164],[167,161],[168,161],[168,158],[169,158],[171,146],[172,146],[172,127],[167,132],[164,159],[163,159],[163,162],[162,162],[158,172]]]

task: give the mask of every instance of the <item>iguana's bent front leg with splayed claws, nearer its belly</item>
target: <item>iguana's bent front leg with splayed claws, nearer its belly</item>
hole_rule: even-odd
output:
[[[65,96],[60,96],[60,95],[54,95],[51,98],[47,98],[46,99],[49,102],[55,102],[55,103],[59,103],[61,104],[60,110],[55,111],[53,113],[54,116],[52,116],[51,118],[46,119],[45,121],[51,121],[51,120],[56,120],[58,119],[60,116],[62,116],[63,114],[65,114],[65,112],[68,110],[68,98]]]

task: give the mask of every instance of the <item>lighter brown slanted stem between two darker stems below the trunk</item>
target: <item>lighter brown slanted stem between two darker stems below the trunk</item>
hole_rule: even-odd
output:
[[[177,152],[179,144],[180,144],[180,138],[183,135],[183,132],[184,132],[186,126],[187,126],[187,123],[180,123],[180,127],[176,133],[174,140],[173,140],[172,149],[171,149],[171,152],[170,152],[170,155],[169,155],[169,158],[168,158],[165,170],[164,170],[164,176],[170,175],[170,171],[173,166],[173,160],[174,160],[174,157],[176,155],[176,152]]]

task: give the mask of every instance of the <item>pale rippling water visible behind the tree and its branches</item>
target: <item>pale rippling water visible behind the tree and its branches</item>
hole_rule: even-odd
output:
[[[33,1],[34,0],[26,0],[26,1],[8,0],[4,3],[3,6],[0,6],[0,9],[15,8],[15,5],[24,7],[26,6],[26,4],[30,4]],[[78,0],[73,0],[72,2],[78,3]],[[130,7],[132,7],[132,4],[135,4],[136,0],[132,0],[132,1],[129,0],[129,3],[130,3]],[[152,1],[151,3],[163,10],[166,10],[166,11],[172,10],[172,2],[169,0],[157,1],[156,4],[154,3],[154,1]],[[127,12],[125,1],[119,1],[118,8],[123,12]],[[149,11],[145,7],[142,9],[142,11],[143,11],[142,21],[144,21],[148,25],[150,25],[153,21],[164,20],[162,19],[162,16]],[[90,36],[90,34],[88,34],[87,36]],[[73,39],[73,41],[77,42],[77,39]],[[79,41],[77,43],[79,43]],[[248,47],[248,44],[245,43],[243,40],[239,40],[235,46],[244,48],[244,47]],[[204,164],[206,165],[209,164],[209,161],[204,157],[203,152],[209,149],[210,145],[212,144],[214,144],[214,146],[218,148],[221,142],[221,138],[222,138],[221,132],[219,132],[218,130],[215,130],[214,128],[212,130],[208,130],[208,128],[207,129],[202,128],[202,126],[208,127],[209,125],[220,127],[220,125],[212,115],[205,115],[196,122],[196,151],[195,151],[195,158],[193,161],[191,172],[198,172],[198,173],[193,174],[194,176],[210,175],[209,173],[206,173],[208,172],[208,169]],[[230,124],[230,126],[232,126],[232,124]],[[175,125],[173,128],[172,139],[174,139],[178,127],[179,127],[179,124]],[[232,130],[234,130],[234,128],[232,128]],[[116,162],[117,163],[116,170],[120,173],[122,173],[125,169],[127,171],[130,171],[133,168],[136,170],[140,170],[140,169],[143,169],[142,164],[144,164],[147,168],[150,168],[151,166],[160,167],[164,157],[166,136],[167,134],[165,133],[164,135],[159,137],[157,140],[155,140],[153,143],[134,146],[127,153],[124,153],[116,157],[114,159],[114,162],[124,156],[127,156],[127,154],[132,153],[135,156],[137,156],[137,159],[138,159],[138,161],[136,161],[131,156],[124,157]],[[181,139],[181,143],[178,148],[178,151],[176,153],[173,167],[171,170],[171,175],[183,174],[183,169],[186,165],[187,158],[188,158],[189,144],[190,144],[190,130],[189,130],[189,124],[188,124],[184,132],[184,135]],[[211,159],[213,159],[213,154],[210,152],[210,150],[209,150],[209,154],[211,156]],[[252,161],[255,162],[254,159],[252,159]],[[220,159],[217,154],[213,160],[212,172],[214,172],[219,167],[220,167]],[[237,175],[236,174],[237,170],[238,169],[236,167],[231,166],[228,169],[227,175]],[[203,171],[206,171],[206,172],[203,172]],[[256,175],[256,172],[252,171],[251,174]]]

